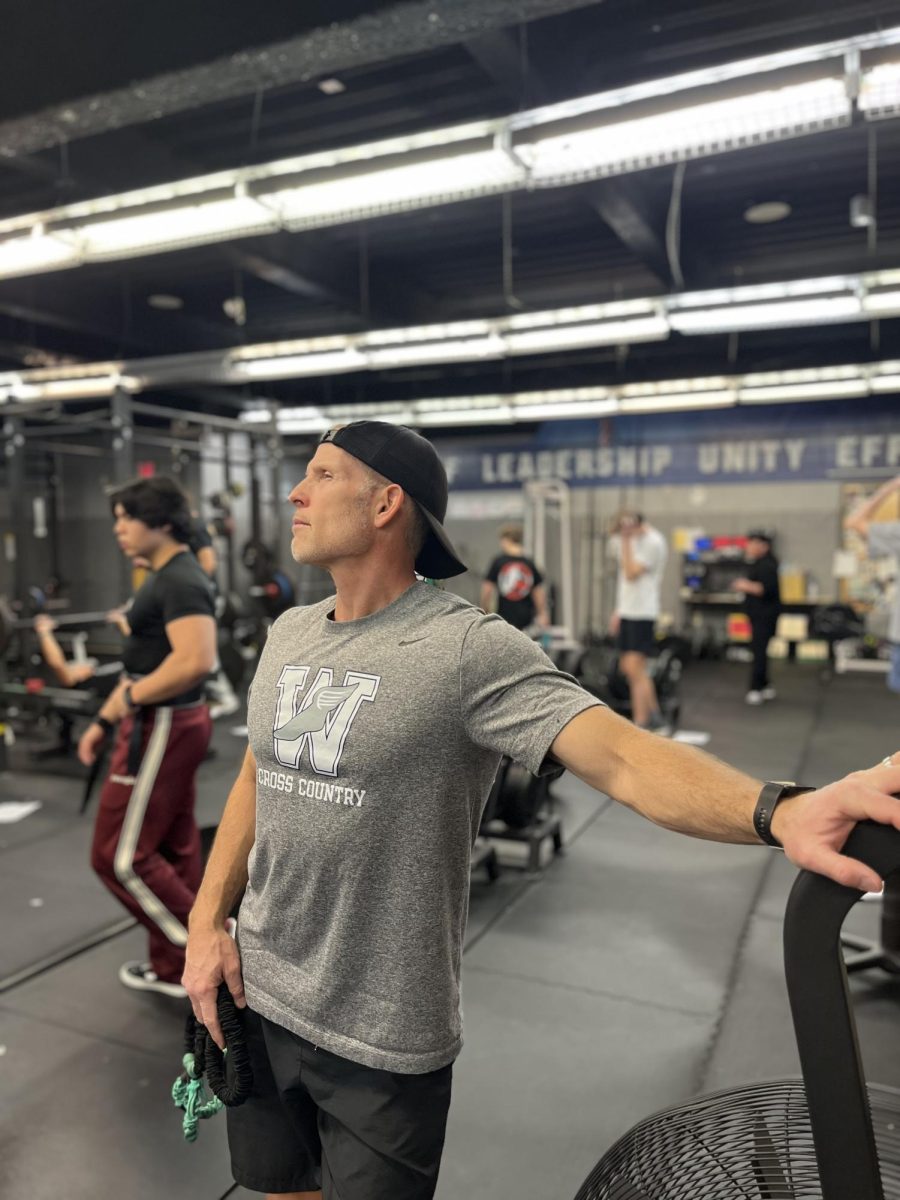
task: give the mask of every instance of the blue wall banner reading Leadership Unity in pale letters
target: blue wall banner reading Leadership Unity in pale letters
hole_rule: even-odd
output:
[[[454,491],[858,480],[900,472],[900,401],[767,406],[553,421],[478,448],[438,444]]]

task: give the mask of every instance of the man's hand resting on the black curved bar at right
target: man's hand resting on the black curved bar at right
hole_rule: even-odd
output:
[[[797,866],[827,875],[844,887],[880,892],[877,872],[840,853],[858,821],[877,821],[900,829],[900,752],[890,763],[857,770],[816,792],[782,800],[772,832]]]

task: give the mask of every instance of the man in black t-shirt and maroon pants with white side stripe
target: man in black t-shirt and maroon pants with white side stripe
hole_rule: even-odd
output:
[[[90,766],[115,731],[91,865],[150,934],[149,960],[126,962],[121,983],[184,996],[187,914],[202,875],[193,806],[211,730],[203,683],[216,658],[212,587],[187,546],[191,514],[173,480],[137,480],[110,505],[122,552],[154,574],[128,612],[126,674],[78,744]]]

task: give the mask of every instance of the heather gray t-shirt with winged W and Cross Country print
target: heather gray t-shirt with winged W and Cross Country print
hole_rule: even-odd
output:
[[[533,773],[598,701],[524,634],[416,583],[275,622],[250,701],[247,1001],[316,1045],[420,1074],[462,1045],[469,857],[499,756]]]

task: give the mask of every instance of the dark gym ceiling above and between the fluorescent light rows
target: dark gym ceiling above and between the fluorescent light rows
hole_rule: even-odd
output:
[[[898,24],[895,0],[7,6],[0,259],[2,222],[23,215],[53,220],[97,197],[506,119]],[[900,47],[886,54],[898,61]],[[810,71],[800,65],[779,84]],[[782,218],[749,220],[758,205],[778,205],[768,215]],[[0,278],[0,372],[215,358],[256,343],[898,268],[900,120],[854,110],[842,127],[702,154],[683,168],[640,166]],[[899,334],[893,317],[672,331],[232,386],[214,372],[204,386],[149,391],[223,415],[253,397],[368,406],[883,362],[900,359]]]

